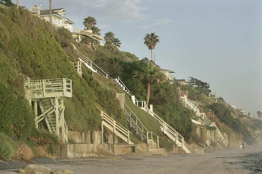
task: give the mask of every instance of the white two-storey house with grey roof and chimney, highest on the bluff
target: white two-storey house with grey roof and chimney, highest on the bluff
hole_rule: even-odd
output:
[[[41,4],[39,6],[31,7],[31,13],[33,15],[37,15],[41,19],[45,19],[46,21],[50,21],[50,10],[45,9],[41,10]],[[64,27],[68,29],[70,32],[73,32],[73,24],[74,22],[65,17],[65,8],[56,8],[51,10],[52,23],[56,27]]]

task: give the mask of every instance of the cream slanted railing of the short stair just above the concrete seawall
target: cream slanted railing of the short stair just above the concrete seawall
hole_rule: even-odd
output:
[[[132,132],[127,130],[124,126],[120,125],[117,121],[115,121],[113,118],[109,117],[103,111],[101,111],[101,117],[102,117],[102,126],[103,125],[106,126],[109,130],[111,130],[114,134],[119,136],[126,143],[133,144],[133,142],[130,141],[130,134],[132,134]],[[102,138],[102,143],[104,143],[103,141],[104,140]]]

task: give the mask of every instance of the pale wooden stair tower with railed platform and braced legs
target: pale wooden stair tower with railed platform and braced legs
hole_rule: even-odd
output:
[[[41,79],[25,78],[25,96],[33,105],[35,125],[45,119],[48,130],[56,134],[62,143],[68,142],[68,128],[64,119],[64,99],[72,97],[72,80],[70,79]],[[38,106],[41,114],[38,113]]]

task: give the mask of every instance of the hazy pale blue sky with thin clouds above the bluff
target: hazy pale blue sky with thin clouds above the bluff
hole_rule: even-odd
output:
[[[15,2],[15,1],[13,1]],[[20,0],[30,9],[48,0]],[[143,44],[155,32],[156,63],[177,79],[196,77],[229,104],[256,115],[262,111],[262,1],[260,0],[52,0],[83,28],[94,16],[104,35],[113,31],[121,50],[150,57]]]

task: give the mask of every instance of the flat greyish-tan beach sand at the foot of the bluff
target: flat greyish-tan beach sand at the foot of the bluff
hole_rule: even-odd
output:
[[[69,169],[75,174],[248,174],[262,173],[262,147],[211,149],[205,154],[169,156],[121,156],[120,159],[82,158],[59,160],[64,164],[46,164]],[[260,171],[261,170],[261,171]],[[17,170],[0,171],[13,174]]]

